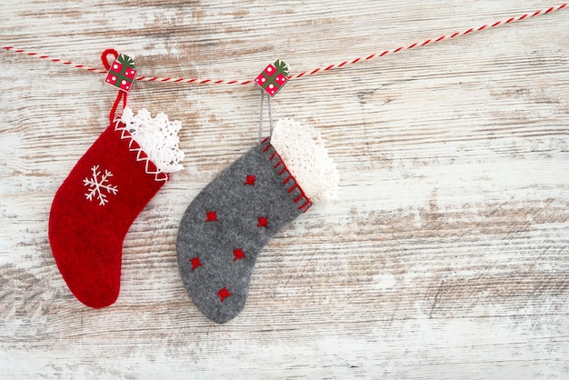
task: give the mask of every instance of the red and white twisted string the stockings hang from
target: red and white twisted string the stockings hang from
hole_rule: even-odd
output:
[[[426,45],[432,45],[435,43],[439,43],[439,42],[442,42],[444,40],[453,39],[453,38],[456,38],[458,36],[470,35],[474,32],[482,32],[484,30],[493,29],[493,28],[501,26],[501,25],[511,24],[515,21],[528,20],[528,19],[535,17],[535,16],[538,16],[538,15],[548,15],[548,14],[551,14],[552,12],[560,11],[564,8],[569,8],[569,6],[567,6],[567,5],[568,5],[567,3],[564,3],[562,5],[551,6],[547,9],[544,9],[544,10],[535,11],[534,13],[528,13],[528,14],[520,15],[518,17],[510,17],[507,20],[496,21],[493,24],[484,24],[484,25],[479,26],[479,27],[469,28],[467,30],[464,30],[463,32],[454,32],[452,35],[441,35],[438,38],[429,38],[429,39],[424,40],[423,42],[416,42],[416,43],[408,45],[408,46],[399,46],[399,47],[396,47],[392,50],[384,50],[381,53],[361,56],[358,58],[354,58],[352,60],[344,61],[340,64],[327,65],[324,67],[317,67],[317,68],[314,68],[314,70],[303,71],[302,73],[299,73],[299,74],[290,75],[289,79],[298,79],[298,78],[308,76],[308,75],[315,75],[318,73],[324,73],[324,72],[327,72],[327,71],[330,71],[333,69],[344,68],[344,67],[354,65],[357,63],[369,61],[369,60],[372,60],[374,58],[382,57],[384,55],[390,55],[390,54],[393,55],[396,53],[404,52],[404,51],[415,49],[418,47],[423,47]],[[87,65],[75,64],[71,61],[65,61],[63,59],[53,58],[49,55],[42,55],[39,53],[29,52],[25,49],[16,48],[14,46],[0,45],[0,47],[2,47],[2,49],[4,49],[4,50],[11,51],[13,53],[18,53],[18,54],[22,54],[22,55],[29,55],[29,56],[33,56],[33,57],[36,57],[39,59],[45,59],[46,61],[50,61],[50,62],[54,62],[54,63],[58,63],[58,64],[63,64],[63,65],[68,65],[70,67],[83,69],[83,70],[86,70],[86,71],[89,71],[92,73],[107,74],[106,70],[102,70],[102,69],[97,68],[97,67],[89,67]],[[188,79],[188,78],[171,78],[171,77],[161,78],[161,77],[156,77],[156,76],[139,76],[136,78],[136,80],[142,81],[142,82],[177,83],[177,84],[186,84],[186,85],[249,85],[251,83],[254,83],[253,80],[199,79],[199,78]]]

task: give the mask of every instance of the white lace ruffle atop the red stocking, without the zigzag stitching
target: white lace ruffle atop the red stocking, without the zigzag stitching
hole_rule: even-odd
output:
[[[184,168],[180,164],[184,152],[178,147],[178,132],[182,128],[179,121],[169,121],[162,112],[153,118],[145,108],[134,115],[130,107],[125,107],[121,121],[125,123],[124,129],[156,165],[158,173],[174,173]]]

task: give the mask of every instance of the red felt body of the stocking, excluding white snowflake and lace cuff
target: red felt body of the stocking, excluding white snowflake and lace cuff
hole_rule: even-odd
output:
[[[120,124],[120,126],[124,126]],[[121,138],[121,135],[125,137]],[[115,303],[121,278],[123,240],[130,225],[165,181],[155,179],[155,165],[144,153],[129,149],[139,145],[125,131],[109,125],[77,162],[55,194],[49,215],[49,242],[59,271],[75,297],[83,304],[101,308]],[[108,203],[88,200],[92,167],[99,165],[113,175],[116,195],[107,194]],[[167,178],[167,175],[162,175]]]

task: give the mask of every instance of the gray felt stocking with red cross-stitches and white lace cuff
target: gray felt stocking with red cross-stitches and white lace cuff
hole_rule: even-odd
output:
[[[176,246],[182,281],[204,315],[220,324],[238,315],[271,236],[313,202],[333,199],[338,183],[320,134],[284,119],[205,186],[185,211]]]

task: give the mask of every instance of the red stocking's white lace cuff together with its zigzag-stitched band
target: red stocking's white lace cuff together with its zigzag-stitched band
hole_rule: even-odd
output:
[[[134,115],[130,107],[125,107],[123,115],[115,119],[115,131],[121,132],[121,139],[129,140],[128,148],[136,152],[136,161],[145,161],[146,174],[155,175],[156,181],[167,181],[168,173],[184,168],[180,164],[184,152],[178,147],[177,135],[181,128],[179,121],[170,122],[163,113],[153,118],[145,108]],[[151,162],[156,170],[151,170]]]

